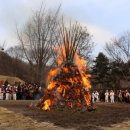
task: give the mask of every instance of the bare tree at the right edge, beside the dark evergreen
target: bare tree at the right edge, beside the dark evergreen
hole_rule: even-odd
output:
[[[128,62],[130,60],[130,32],[106,43],[105,50],[112,59]]]

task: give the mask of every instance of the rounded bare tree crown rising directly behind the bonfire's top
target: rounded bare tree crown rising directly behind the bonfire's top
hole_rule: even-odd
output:
[[[53,50],[58,48],[59,52],[56,49],[55,58],[60,55],[63,62],[73,62],[75,54],[78,53],[88,60],[94,44],[87,28],[78,22],[65,24],[62,18],[57,29]]]

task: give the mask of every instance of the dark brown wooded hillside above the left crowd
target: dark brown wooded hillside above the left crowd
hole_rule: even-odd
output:
[[[30,77],[29,65],[0,51],[0,75],[19,77],[26,81]]]

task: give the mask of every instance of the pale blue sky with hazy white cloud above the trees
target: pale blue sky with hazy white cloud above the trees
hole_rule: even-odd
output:
[[[0,0],[0,45],[18,43],[16,23],[24,26],[41,3],[77,20],[88,28],[95,43],[94,55],[104,51],[106,42],[130,30],[130,0]]]

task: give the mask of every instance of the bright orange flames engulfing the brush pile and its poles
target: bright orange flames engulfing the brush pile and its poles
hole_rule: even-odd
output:
[[[86,70],[88,69],[86,60],[81,58],[78,53],[75,54],[74,57],[74,64],[76,64],[77,68],[79,71],[76,71],[75,76],[70,77],[70,70],[73,72],[75,71],[74,66],[61,66],[64,62],[65,58],[65,51],[64,49],[58,50],[56,48],[56,51],[59,53],[58,54],[58,59],[57,63],[61,67],[62,73],[69,75],[68,77],[64,77],[64,80],[60,82],[59,80],[54,79],[54,77],[60,73],[60,69],[53,69],[50,70],[48,73],[48,81],[49,85],[47,87],[48,93],[50,94],[49,98],[46,98],[43,103],[43,110],[50,110],[50,107],[52,106],[52,103],[55,104],[57,101],[62,100],[62,98],[65,98],[65,102],[67,102],[68,107],[82,107],[83,106],[83,101],[80,100],[79,97],[81,97],[81,94],[83,95],[82,98],[85,101],[86,106],[90,106],[91,104],[91,94],[90,94],[90,88],[91,88],[91,83],[90,83],[90,74],[86,74]],[[61,52],[62,51],[62,52]],[[80,73],[80,74],[79,74]],[[72,73],[73,75],[73,73]],[[78,75],[78,76],[76,76]],[[80,75],[80,76],[79,76]],[[61,77],[63,75],[61,74]],[[70,85],[69,85],[70,84]],[[73,89],[73,91],[69,91],[70,86],[78,86]],[[69,94],[68,94],[69,93]],[[69,96],[66,96],[66,95]],[[73,98],[74,97],[74,98]],[[72,98],[72,99],[70,99]],[[72,101],[71,101],[72,100]],[[73,101],[76,100],[76,103]]]

